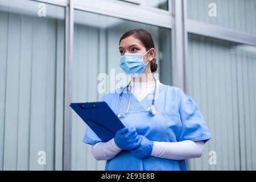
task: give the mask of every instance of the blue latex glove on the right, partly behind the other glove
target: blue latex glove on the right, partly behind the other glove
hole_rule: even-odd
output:
[[[139,140],[141,140],[141,144],[135,150],[130,150],[130,152],[135,157],[139,159],[143,159],[143,158],[146,158],[147,156],[150,156],[154,146],[154,142],[147,139],[143,135],[138,135],[138,137],[139,137]]]

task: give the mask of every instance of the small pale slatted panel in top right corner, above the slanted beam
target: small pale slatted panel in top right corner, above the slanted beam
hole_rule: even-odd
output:
[[[216,3],[217,16],[209,16]],[[256,34],[256,0],[187,0],[188,18]]]

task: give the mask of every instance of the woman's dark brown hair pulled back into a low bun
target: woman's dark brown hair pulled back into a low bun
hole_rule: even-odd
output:
[[[155,48],[154,42],[150,33],[142,29],[134,29],[134,30],[129,30],[125,32],[125,34],[123,34],[122,37],[120,38],[119,44],[121,43],[121,40],[132,35],[135,36],[135,38],[141,40],[143,46],[146,48],[146,51],[148,51],[150,48]],[[150,61],[150,69],[152,73],[154,73],[156,69],[158,69],[158,64],[156,64],[155,57]]]

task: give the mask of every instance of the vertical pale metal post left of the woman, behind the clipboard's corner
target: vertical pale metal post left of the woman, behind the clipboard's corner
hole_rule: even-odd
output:
[[[72,101],[72,55],[73,55],[73,0],[66,7],[65,19],[65,90],[64,90],[64,170],[71,170],[71,109]]]

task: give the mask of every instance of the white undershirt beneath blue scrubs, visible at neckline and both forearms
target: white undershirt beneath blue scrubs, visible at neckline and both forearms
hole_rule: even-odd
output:
[[[156,81],[156,86],[159,86],[160,81]],[[155,86],[155,82],[133,82],[131,81],[131,93],[142,101],[144,97],[150,93]],[[92,145],[92,155],[96,160],[108,160],[117,155],[121,148],[119,148],[114,139],[108,142],[100,142]],[[173,160],[182,160],[190,158],[199,158],[204,151],[204,142],[192,140],[184,140],[181,142],[154,142],[151,156],[156,158],[166,158]]]

